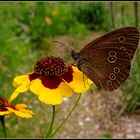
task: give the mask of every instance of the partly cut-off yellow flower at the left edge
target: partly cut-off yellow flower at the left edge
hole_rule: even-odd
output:
[[[12,99],[15,99],[14,96],[17,95],[16,93],[17,92],[15,91],[12,94],[13,97],[9,98],[9,99],[4,99],[4,98],[0,97],[0,115],[5,116],[5,115],[15,113],[17,116],[22,117],[22,118],[32,117],[33,112],[31,110],[25,109],[27,107],[27,105],[11,104]]]

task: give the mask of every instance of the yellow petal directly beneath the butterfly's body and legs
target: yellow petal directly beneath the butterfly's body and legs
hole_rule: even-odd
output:
[[[90,88],[90,85],[93,84],[93,82],[87,78],[86,75],[84,75],[83,72],[79,71],[76,67],[72,67],[73,69],[73,80],[68,83],[68,86],[70,86],[75,92],[82,93],[87,91]]]

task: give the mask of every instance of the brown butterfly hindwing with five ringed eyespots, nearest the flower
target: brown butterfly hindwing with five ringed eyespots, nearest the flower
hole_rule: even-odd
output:
[[[96,52],[90,50],[90,53],[82,56],[79,63],[89,79],[98,87],[110,91],[125,82],[131,67],[129,55],[117,48],[98,49]]]

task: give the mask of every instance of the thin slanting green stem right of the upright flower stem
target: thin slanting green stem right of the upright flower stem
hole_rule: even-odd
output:
[[[63,122],[56,128],[56,130],[50,135],[50,138],[52,138],[57,131],[63,126],[63,124],[68,120],[68,118],[70,117],[71,113],[74,111],[74,109],[76,108],[79,100],[81,98],[81,94],[79,94],[78,99],[76,100],[74,106],[72,107],[72,109],[69,111],[69,113],[67,114],[67,116],[65,117],[65,119],[63,120]]]

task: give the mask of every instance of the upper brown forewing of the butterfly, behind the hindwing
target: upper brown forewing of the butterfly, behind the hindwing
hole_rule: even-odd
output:
[[[82,50],[81,54],[90,49],[98,49],[103,47],[120,48],[129,54],[132,59],[137,49],[140,39],[139,30],[135,27],[125,27],[111,31],[102,37],[91,41]]]

